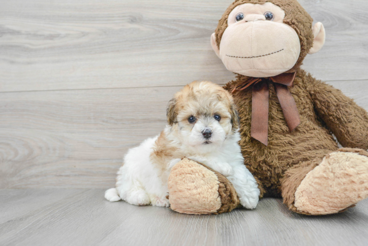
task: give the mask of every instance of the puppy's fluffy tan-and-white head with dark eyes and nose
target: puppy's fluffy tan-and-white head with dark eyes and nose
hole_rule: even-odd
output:
[[[167,121],[183,144],[210,152],[239,128],[239,116],[229,92],[211,82],[194,81],[170,100]]]

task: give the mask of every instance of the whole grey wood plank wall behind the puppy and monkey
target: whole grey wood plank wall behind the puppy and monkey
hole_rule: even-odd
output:
[[[0,188],[114,185],[193,80],[234,78],[210,35],[232,0],[0,0]],[[368,109],[368,1],[300,0],[327,32],[303,68]]]

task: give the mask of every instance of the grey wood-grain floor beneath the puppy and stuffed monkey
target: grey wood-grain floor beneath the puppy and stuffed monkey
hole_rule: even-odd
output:
[[[0,190],[0,245],[366,246],[368,200],[337,215],[304,216],[280,199],[255,210],[184,215],[110,203],[101,189]]]

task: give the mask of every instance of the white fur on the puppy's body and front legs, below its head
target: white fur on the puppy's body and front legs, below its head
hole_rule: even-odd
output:
[[[165,132],[170,132],[167,126]],[[167,184],[162,184],[158,171],[150,162],[153,144],[157,137],[145,140],[140,146],[132,148],[124,157],[124,165],[118,171],[116,188],[106,190],[105,198],[111,202],[120,199],[134,205],[153,204],[168,207]],[[203,163],[226,176],[233,184],[240,198],[241,205],[247,209],[257,206],[259,189],[253,175],[246,169],[238,141],[238,132],[224,140],[223,144],[213,151],[204,154],[193,153],[192,146],[183,146],[190,154],[187,158]],[[184,156],[183,156],[184,157]],[[167,175],[171,168],[181,159],[172,159],[167,165]]]

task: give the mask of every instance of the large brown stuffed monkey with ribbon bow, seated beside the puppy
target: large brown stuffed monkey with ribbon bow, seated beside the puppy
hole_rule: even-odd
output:
[[[307,54],[319,51],[324,42],[322,23],[312,25],[296,0],[236,0],[211,36],[216,55],[236,73],[236,80],[225,89],[238,107],[240,145],[245,165],[259,184],[260,198],[282,197],[291,211],[305,215],[339,213],[368,197],[367,112],[300,68]],[[208,203],[221,200],[219,192],[212,200],[204,198],[207,193],[198,192],[198,187],[178,189],[178,181],[189,175],[186,166],[178,164],[169,184],[170,196],[176,192],[176,199],[170,198],[172,208],[185,205],[187,210],[177,211],[190,214],[190,208],[197,208],[195,214],[217,213],[215,209],[201,213],[197,205],[207,198]],[[203,175],[197,179],[193,182],[213,182]],[[197,197],[190,207],[185,194],[191,191]]]

